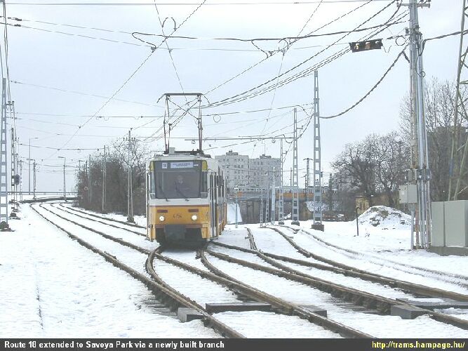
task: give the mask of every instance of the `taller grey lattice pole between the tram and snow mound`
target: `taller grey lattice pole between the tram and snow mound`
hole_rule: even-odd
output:
[[[313,225],[322,223],[322,169],[320,145],[319,72],[314,71],[314,215]]]

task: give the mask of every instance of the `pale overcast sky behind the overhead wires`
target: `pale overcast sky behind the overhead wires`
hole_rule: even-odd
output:
[[[18,136],[20,143],[24,144],[20,146],[20,156],[28,157],[29,148],[25,145],[29,144],[29,138],[36,138],[31,140],[31,157],[39,164],[38,189],[62,188],[60,165],[63,159],[59,156],[67,157],[67,164],[76,166],[79,159],[86,159],[92,152],[57,151],[44,147],[102,149],[103,145],[111,145],[133,128],[133,135],[145,141],[149,150],[163,150],[163,139],[157,138],[161,135],[162,119],[149,118],[164,113],[163,99],[156,103],[163,93],[180,92],[183,88],[185,92],[205,93],[202,105],[208,105],[208,101],[213,104],[270,79],[275,81],[279,72],[283,74],[307,59],[280,81],[303,69],[311,69],[323,59],[347,48],[350,41],[364,37],[370,30],[354,32],[343,39],[340,38],[344,34],[300,39],[290,44],[284,54],[279,49],[286,48],[286,41],[255,41],[254,46],[250,41],[213,38],[305,35],[362,6],[314,34],[349,31],[392,2],[332,1],[335,0],[324,0],[322,4],[320,1],[293,4],[294,1],[288,0],[281,1],[283,4],[271,4],[271,1],[270,4],[253,4],[261,1],[207,0],[188,20],[187,17],[199,6],[195,1],[190,4],[192,1],[157,0],[157,11],[151,0],[49,0],[48,5],[39,5],[46,0],[29,4],[24,4],[26,0],[6,1],[7,17],[22,19],[7,21],[11,25],[22,26],[8,26],[9,72],[13,81],[11,95],[18,112]],[[67,2],[74,5],[62,5]],[[382,25],[396,9],[396,4],[391,4],[362,27]],[[430,8],[421,8],[420,27],[424,38],[460,30],[461,10],[461,0],[433,0]],[[403,22],[388,27],[375,38],[404,36],[409,19],[406,7],[402,6],[395,18],[400,15],[403,15]],[[174,27],[178,27],[173,35],[199,39],[168,39],[166,46],[160,45],[161,37],[138,36],[159,46],[152,53],[149,44],[138,41],[131,33],[162,34],[159,18],[161,22],[167,18],[164,34],[171,34]],[[459,40],[455,36],[427,43],[424,49],[427,78],[455,79]],[[342,112],[365,95],[392,65],[403,48],[403,42],[404,38],[386,39],[382,50],[346,53],[321,67],[321,116]],[[260,61],[263,62],[236,77]],[[145,63],[142,65],[142,62]],[[232,80],[223,84],[229,79]],[[384,134],[397,130],[399,107],[408,87],[408,62],[401,57],[382,84],[354,110],[335,119],[322,120],[323,171],[331,171],[330,161],[346,143],[362,140],[370,133]],[[293,131],[292,109],[278,107],[300,105],[310,114],[313,88],[313,74],[304,74],[276,91],[229,105],[203,108],[203,136],[290,136]],[[114,98],[109,100],[111,97]],[[178,105],[186,102],[184,98],[174,98],[173,101]],[[274,108],[271,112],[225,114],[269,109],[270,106]],[[171,113],[175,107],[170,104]],[[196,110],[191,112],[197,113]],[[299,126],[305,125],[307,114],[298,107]],[[145,118],[116,118],[122,116]],[[171,146],[192,150],[197,145],[183,138],[196,138],[196,135],[195,120],[187,115],[171,133],[174,137]],[[312,135],[311,125],[299,141],[299,168],[305,168],[302,159],[313,157]],[[241,144],[232,145],[234,143]],[[285,143],[285,150],[288,146]],[[272,143],[270,140],[255,143],[207,140],[203,149],[212,155],[233,150],[249,157],[258,157],[264,152],[279,157],[280,153],[279,141]],[[286,169],[292,166],[292,154],[292,150],[288,152]],[[27,190],[27,171],[26,165],[22,173],[23,190]],[[67,190],[74,186],[73,173],[74,168],[67,168]],[[304,171],[300,171],[300,177],[303,175]],[[285,183],[289,182],[288,178],[286,173]]]

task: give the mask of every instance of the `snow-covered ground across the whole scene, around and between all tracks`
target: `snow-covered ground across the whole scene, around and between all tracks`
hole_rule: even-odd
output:
[[[70,223],[67,219],[58,218],[37,205],[34,206],[76,236],[116,256],[143,274],[147,274],[143,267],[145,254],[109,241],[94,232]],[[73,213],[64,212],[60,206],[53,207],[50,204],[45,206],[60,216],[93,227],[112,237],[130,241],[142,248],[154,249],[157,246],[156,243],[146,241],[145,237],[126,232],[125,225],[122,228],[109,227],[103,223],[96,223],[86,218],[76,217]],[[382,213],[385,215],[385,211],[388,214],[383,218],[380,215]],[[232,211],[230,212],[232,214]],[[468,277],[468,258],[442,257],[426,251],[410,251],[409,225],[406,218],[386,208],[374,212],[376,213],[364,213],[361,216],[359,237],[356,236],[355,221],[324,223],[325,232],[310,229],[312,225],[310,221],[302,222],[301,230],[295,232],[288,229],[294,226],[290,225],[290,221],[286,221],[288,227],[283,227],[281,230],[304,249],[319,256],[409,282],[419,282],[440,289],[468,293],[468,279],[451,277],[452,275]],[[79,214],[87,217],[82,213]],[[178,322],[171,312],[159,305],[143,284],[107,263],[100,256],[83,248],[76,241],[69,239],[64,232],[40,218],[29,208],[29,205],[21,206],[19,216],[22,220],[10,221],[14,232],[0,232],[0,282],[2,282],[0,284],[0,310],[2,311],[0,313],[0,338],[182,338],[194,336],[203,338],[218,336],[213,330],[205,328],[201,322],[194,321],[185,324]],[[108,214],[106,216],[126,220],[126,216],[123,215]],[[141,225],[146,223],[144,217],[137,218],[137,221]],[[375,225],[377,222],[378,224]],[[238,228],[234,225],[227,225],[218,241],[250,249],[246,227],[250,227],[258,249],[262,251],[321,263],[319,260],[300,255],[280,234],[268,228],[260,228],[259,225],[239,225]],[[145,232],[138,228],[134,229],[138,232]],[[251,253],[242,253],[215,245],[211,245],[210,249],[269,266]],[[164,254],[206,270],[194,252],[173,250],[166,251]],[[421,335],[441,338],[468,337],[467,331],[424,316],[415,320],[403,320],[394,316],[377,316],[358,312],[343,305],[341,300],[310,286],[290,282],[234,263],[227,263],[213,256],[208,258],[236,279],[292,303],[313,304],[326,308],[330,319],[373,336],[386,338],[411,338]],[[218,284],[212,282],[200,284],[201,280],[206,281],[206,279],[163,263],[161,260],[155,262],[156,272],[166,282],[201,304],[237,300],[231,291]],[[281,263],[313,277],[335,282],[335,284],[381,294],[389,298],[408,298],[407,293],[390,289],[387,286],[371,282],[356,282],[356,279],[343,277],[333,272]],[[401,270],[400,263],[421,269]],[[321,264],[326,265],[326,263]],[[446,280],[441,280],[437,274],[423,271],[423,268],[446,272]],[[7,312],[4,313],[4,311]],[[454,317],[460,319],[468,319],[467,310],[452,308],[441,312],[453,314]],[[247,337],[288,338],[293,337],[287,332],[291,329],[295,331],[294,337],[299,338],[337,337],[330,331],[302,319],[271,312],[225,312],[217,314],[217,317]],[[266,324],[269,328],[263,327]]]

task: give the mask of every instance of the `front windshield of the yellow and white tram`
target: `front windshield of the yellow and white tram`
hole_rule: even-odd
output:
[[[156,161],[154,166],[157,199],[200,197],[201,161]]]

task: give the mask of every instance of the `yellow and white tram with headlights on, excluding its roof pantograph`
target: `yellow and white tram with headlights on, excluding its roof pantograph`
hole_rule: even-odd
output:
[[[155,155],[147,162],[147,237],[160,244],[203,244],[226,224],[225,178],[203,152]]]

